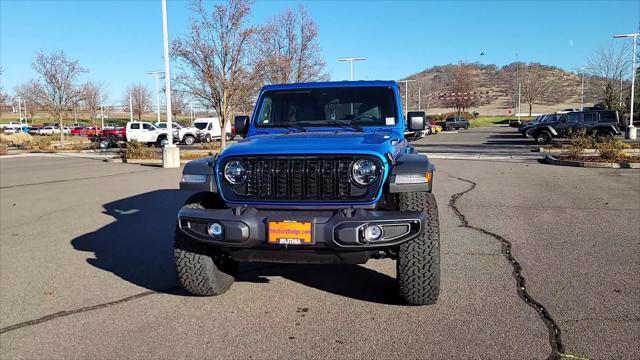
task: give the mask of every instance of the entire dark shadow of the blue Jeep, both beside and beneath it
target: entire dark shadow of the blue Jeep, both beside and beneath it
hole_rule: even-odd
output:
[[[176,214],[189,195],[177,189],[156,190],[104,204],[103,213],[115,221],[73,239],[71,245],[89,253],[87,263],[123,280],[188,296],[176,291],[173,236]],[[358,265],[243,263],[236,281],[268,283],[268,277],[363,301],[400,303],[394,278]]]

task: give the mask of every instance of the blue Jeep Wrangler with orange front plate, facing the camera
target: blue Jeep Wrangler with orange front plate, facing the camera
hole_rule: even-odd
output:
[[[265,86],[244,137],[218,156],[189,162],[178,213],[180,284],[219,295],[239,262],[396,260],[400,296],[433,304],[440,286],[435,170],[405,132],[393,81]]]

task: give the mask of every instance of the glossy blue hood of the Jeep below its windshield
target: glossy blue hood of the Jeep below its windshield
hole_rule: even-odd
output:
[[[255,135],[225,149],[221,156],[259,154],[370,154],[384,158],[398,155],[404,136],[392,131],[362,132],[292,132]]]

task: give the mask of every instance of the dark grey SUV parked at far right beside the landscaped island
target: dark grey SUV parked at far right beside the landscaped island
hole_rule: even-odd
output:
[[[598,141],[620,134],[620,118],[615,110],[572,111],[559,114],[552,120],[534,125],[527,131],[528,136],[542,145],[554,138],[567,137],[579,129],[586,129],[586,133],[594,135]]]

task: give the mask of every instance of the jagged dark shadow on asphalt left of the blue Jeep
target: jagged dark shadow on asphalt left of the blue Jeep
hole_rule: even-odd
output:
[[[93,253],[87,262],[138,286],[165,291],[177,286],[173,265],[176,214],[188,197],[180,190],[156,190],[104,204],[115,221],[71,241]]]

